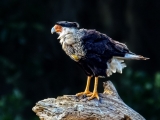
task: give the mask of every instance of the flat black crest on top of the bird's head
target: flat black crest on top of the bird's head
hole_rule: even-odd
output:
[[[68,21],[58,21],[57,25],[61,25],[62,27],[75,27],[79,28],[79,24],[77,22],[68,22]]]

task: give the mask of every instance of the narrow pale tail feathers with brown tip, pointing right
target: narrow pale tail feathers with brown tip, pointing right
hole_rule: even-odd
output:
[[[143,57],[142,55],[129,54],[129,53],[126,53],[124,57],[118,57],[118,56],[114,56],[114,57],[119,58],[119,59],[127,59],[127,60],[148,60],[150,59],[147,57]]]

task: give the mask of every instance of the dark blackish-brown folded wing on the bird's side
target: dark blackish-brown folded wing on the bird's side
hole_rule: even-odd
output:
[[[87,53],[94,53],[102,57],[124,57],[125,53],[130,53],[125,44],[112,40],[107,35],[95,30],[85,30],[85,35],[81,40]]]

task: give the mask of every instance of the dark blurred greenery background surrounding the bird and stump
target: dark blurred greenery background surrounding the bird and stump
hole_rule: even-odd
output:
[[[37,101],[84,90],[86,75],[50,32],[61,20],[106,33],[151,58],[128,61],[122,75],[100,79],[98,89],[112,80],[127,105],[159,120],[159,6],[159,0],[0,0],[0,120],[38,120],[32,112]]]

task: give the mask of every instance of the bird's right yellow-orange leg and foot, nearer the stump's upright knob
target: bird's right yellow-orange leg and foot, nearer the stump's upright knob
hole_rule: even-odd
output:
[[[94,82],[94,90],[93,93],[87,94],[87,96],[91,96],[88,98],[88,100],[91,100],[93,98],[97,98],[99,100],[98,92],[97,92],[97,86],[98,86],[98,77],[95,77],[95,82]]]

